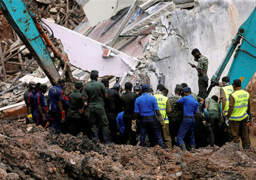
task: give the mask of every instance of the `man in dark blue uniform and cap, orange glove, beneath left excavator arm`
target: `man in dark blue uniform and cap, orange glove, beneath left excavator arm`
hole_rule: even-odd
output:
[[[58,84],[49,89],[49,116],[53,119],[52,127],[55,128],[55,131],[59,131],[60,121],[65,117],[62,106],[64,84],[65,80],[59,78]]]

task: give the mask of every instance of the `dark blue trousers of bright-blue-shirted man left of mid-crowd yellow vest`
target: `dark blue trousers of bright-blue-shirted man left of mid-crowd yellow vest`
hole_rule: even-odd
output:
[[[145,146],[146,134],[150,129],[152,130],[152,134],[155,136],[155,140],[158,142],[158,144],[160,146],[165,146],[161,136],[160,126],[156,118],[142,117],[141,121],[139,121],[139,125],[141,126],[141,134],[139,135],[139,140],[141,143],[139,145]]]

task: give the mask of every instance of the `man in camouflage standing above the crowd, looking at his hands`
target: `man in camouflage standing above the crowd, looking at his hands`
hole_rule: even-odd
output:
[[[199,93],[197,96],[202,98],[207,98],[207,87],[208,87],[208,76],[207,76],[207,70],[208,70],[208,58],[205,57],[200,53],[198,49],[193,49],[191,53],[194,57],[194,60],[198,62],[198,65],[192,65],[192,67],[195,67],[198,72],[198,86],[199,86]]]

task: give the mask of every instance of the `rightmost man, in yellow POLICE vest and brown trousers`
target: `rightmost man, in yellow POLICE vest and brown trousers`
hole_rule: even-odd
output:
[[[247,121],[250,114],[250,95],[248,92],[242,90],[241,80],[235,79],[233,81],[234,92],[229,95],[229,110],[228,118],[232,140],[239,146],[239,136],[241,135],[242,146],[244,149],[249,149],[250,139],[247,130]]]

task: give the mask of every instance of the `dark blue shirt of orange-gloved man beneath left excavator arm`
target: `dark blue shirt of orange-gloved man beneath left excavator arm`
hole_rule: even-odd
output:
[[[60,112],[59,100],[63,100],[63,90],[57,84],[49,89],[49,112]]]

